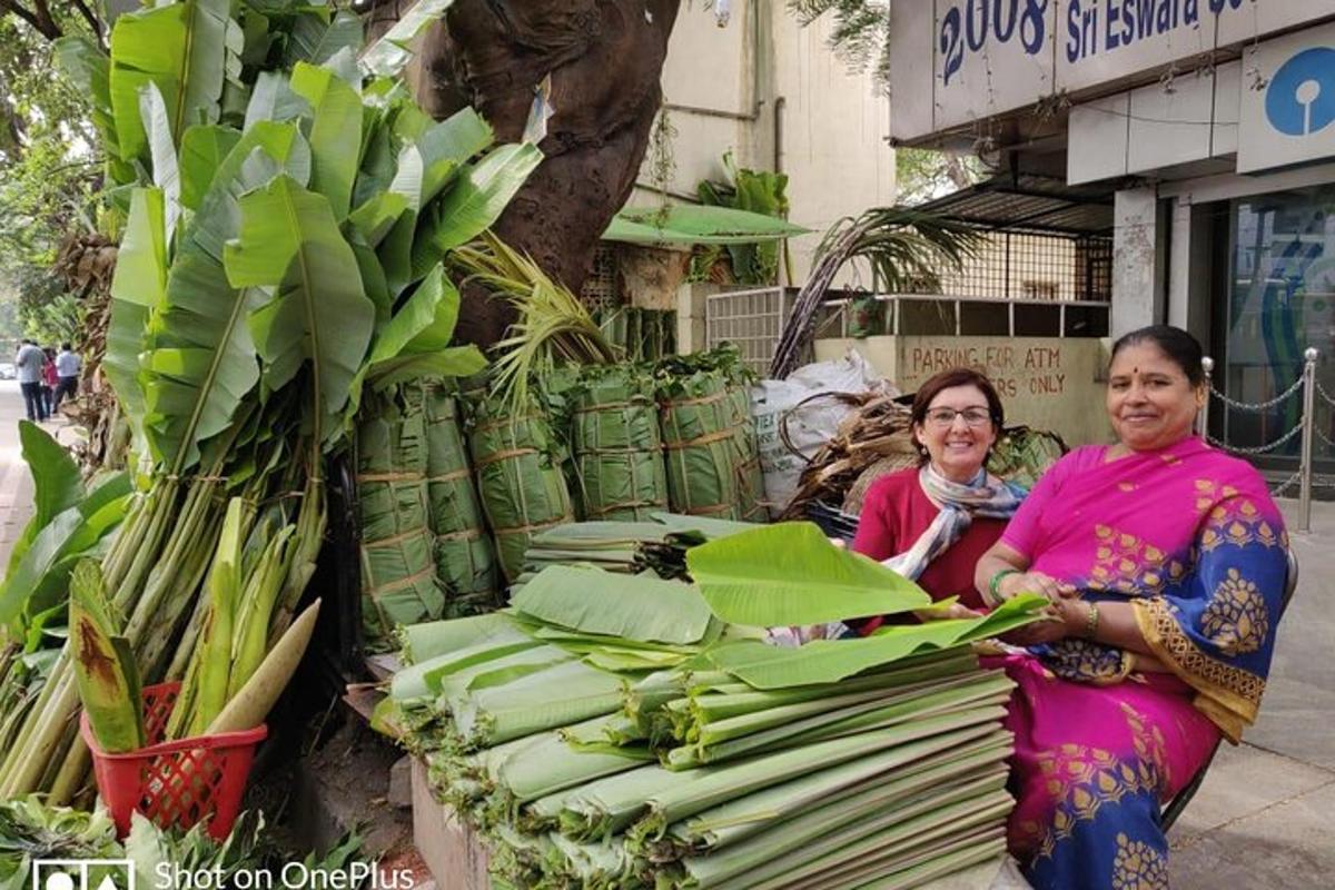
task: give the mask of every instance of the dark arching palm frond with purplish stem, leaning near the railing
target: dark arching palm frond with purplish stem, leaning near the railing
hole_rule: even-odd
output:
[[[985,243],[987,236],[965,223],[904,207],[874,207],[836,221],[816,248],[816,266],[784,326],[770,376],[788,376],[797,367],[825,292],[848,263],[865,260],[888,291],[934,290],[943,272],[959,271]]]

